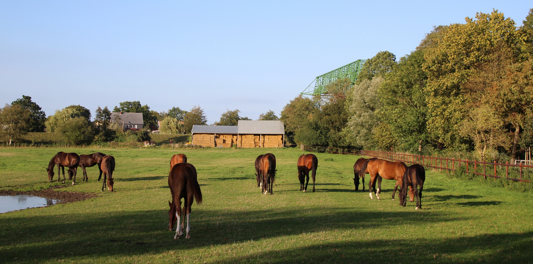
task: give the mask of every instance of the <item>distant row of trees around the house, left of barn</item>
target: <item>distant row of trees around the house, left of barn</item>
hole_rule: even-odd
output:
[[[150,110],[148,105],[141,105],[140,101],[126,101],[115,106],[113,112],[142,113],[144,129],[138,131],[124,130],[116,123],[110,123],[111,111],[107,106],[95,111],[94,120],[91,121],[91,111],[81,105],[70,105],[61,110],[56,110],[52,116],[46,118],[44,111],[31,97],[22,95],[22,98],[6,104],[0,109],[0,139],[8,145],[20,142],[23,135],[28,132],[60,133],[67,142],[74,144],[90,144],[93,142],[131,142],[146,141],[150,139],[149,129],[156,129],[160,122],[159,130],[164,134],[190,133],[193,125],[207,125],[207,118],[200,106],[193,106],[190,111],[173,107],[168,111],[157,112]],[[240,111],[228,110],[224,112],[220,121],[215,125],[236,126],[238,120],[251,120],[240,117]],[[269,110],[261,114],[259,120],[277,120],[276,114]]]

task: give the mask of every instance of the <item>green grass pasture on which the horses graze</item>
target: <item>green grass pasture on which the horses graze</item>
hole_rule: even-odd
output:
[[[533,261],[533,194],[428,170],[424,209],[415,211],[414,203],[392,201],[389,180],[382,200],[354,192],[353,155],[317,154],[317,192],[303,193],[299,149],[177,150],[197,168],[204,196],[192,206],[190,240],[174,240],[166,229],[168,163],[176,150],[2,148],[0,188],[57,185],[45,167],[58,151],[114,155],[116,192],[100,193],[93,167],[88,183],[61,190],[100,196],[0,214],[2,263]],[[277,158],[274,195],[261,194],[255,182],[255,158],[266,152]]]

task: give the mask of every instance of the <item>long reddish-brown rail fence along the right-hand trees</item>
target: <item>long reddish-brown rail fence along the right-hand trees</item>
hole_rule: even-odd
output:
[[[458,167],[465,166],[466,173],[481,175],[485,179],[487,177],[492,178],[505,178],[508,180],[514,180],[515,182],[526,182],[530,183],[530,180],[522,179],[523,168],[533,168],[530,165],[519,164],[509,164],[509,162],[496,163],[494,162],[485,162],[477,160],[461,160],[461,159],[450,159],[450,158],[440,158],[437,156],[425,156],[425,155],[416,155],[416,154],[407,154],[407,153],[394,153],[394,152],[384,152],[384,151],[372,151],[372,150],[349,150],[349,149],[340,149],[334,147],[318,147],[318,146],[303,146],[303,149],[310,152],[321,152],[321,153],[332,153],[332,154],[352,154],[352,155],[361,155],[361,156],[370,156],[373,158],[379,158],[383,160],[390,161],[403,161],[405,163],[411,164],[421,164],[424,167],[434,168],[435,170],[456,170]],[[457,164],[456,164],[457,163]],[[471,169],[473,167],[473,170]],[[487,171],[488,167],[488,171]],[[498,167],[500,170],[500,175],[498,176]],[[505,168],[504,168],[505,167]],[[505,169],[504,172],[501,171]],[[482,170],[482,172],[481,172]],[[479,171],[479,172],[478,172]],[[494,172],[494,174],[489,174]],[[510,174],[517,174],[519,177],[511,178]]]

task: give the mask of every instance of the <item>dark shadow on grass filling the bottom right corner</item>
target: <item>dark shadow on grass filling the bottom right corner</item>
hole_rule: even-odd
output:
[[[531,236],[524,234],[479,235],[443,240],[396,238],[393,240],[328,241],[288,249],[248,253],[207,263],[529,263]],[[515,239],[516,238],[516,239]],[[227,246],[228,250],[235,247]],[[479,252],[481,250],[483,252]],[[475,252],[478,251],[478,252]],[[475,253],[473,253],[475,252]]]

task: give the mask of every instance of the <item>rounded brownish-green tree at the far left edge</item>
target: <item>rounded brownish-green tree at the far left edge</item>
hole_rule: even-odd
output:
[[[30,114],[18,104],[6,104],[0,109],[0,140],[7,145],[20,141],[30,126]]]

